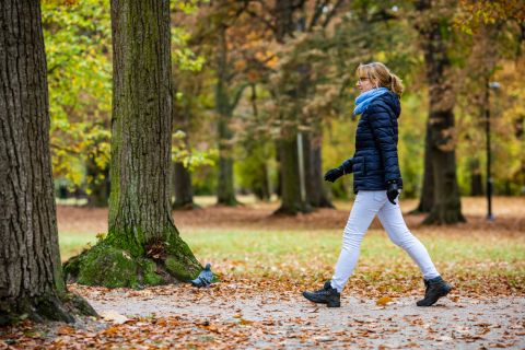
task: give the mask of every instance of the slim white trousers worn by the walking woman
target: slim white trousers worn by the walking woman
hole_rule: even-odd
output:
[[[396,199],[397,201],[397,199]],[[375,215],[378,215],[392,242],[404,248],[421,269],[424,279],[440,276],[430,255],[407,228],[399,203],[394,206],[386,190],[360,190],[342,236],[342,248],[331,278],[331,288],[341,292],[358,262],[361,241]]]

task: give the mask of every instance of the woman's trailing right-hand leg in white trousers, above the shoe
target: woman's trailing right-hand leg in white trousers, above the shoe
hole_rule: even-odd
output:
[[[378,218],[392,242],[405,249],[421,269],[425,280],[439,277],[429,252],[423,244],[410,233],[402,219],[399,203],[393,205],[387,200],[386,191],[375,192],[374,199],[380,202]]]

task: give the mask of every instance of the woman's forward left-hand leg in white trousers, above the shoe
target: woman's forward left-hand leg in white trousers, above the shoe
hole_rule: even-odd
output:
[[[336,271],[331,278],[331,288],[340,293],[347,284],[358,262],[361,241],[372,220],[377,214],[381,203],[374,200],[375,191],[360,190],[353,202],[350,218],[342,235],[342,248],[337,260]]]

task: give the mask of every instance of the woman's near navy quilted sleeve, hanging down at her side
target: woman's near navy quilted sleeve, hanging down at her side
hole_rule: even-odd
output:
[[[380,104],[371,105],[366,112],[372,135],[383,162],[385,182],[397,182],[401,178],[401,173],[397,156],[397,135],[392,124],[390,113],[386,106]]]

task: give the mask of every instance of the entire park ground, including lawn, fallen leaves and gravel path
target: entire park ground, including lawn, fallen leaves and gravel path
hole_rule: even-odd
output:
[[[276,203],[174,212],[183,238],[210,261],[221,282],[143,290],[69,289],[101,318],[74,325],[22,323],[0,328],[0,349],[302,349],[525,348],[525,199],[463,200],[468,222],[422,226],[406,215],[439,270],[450,298],[417,307],[419,271],[375,222],[366,234],[341,308],[301,296],[329,279],[351,203],[295,218],[272,217]],[[404,201],[408,211],[415,201]],[[105,232],[107,211],[59,207],[62,258]]]

